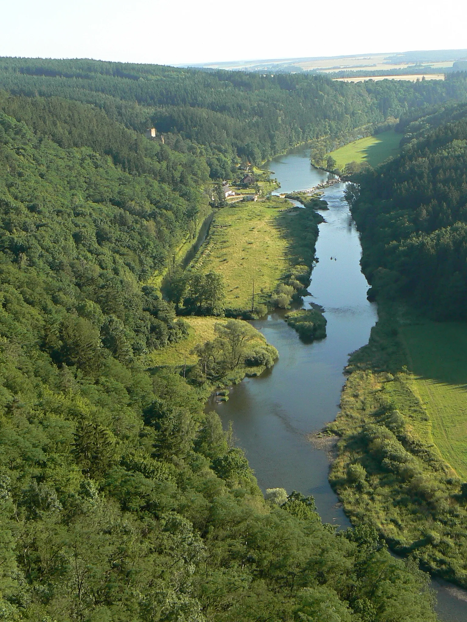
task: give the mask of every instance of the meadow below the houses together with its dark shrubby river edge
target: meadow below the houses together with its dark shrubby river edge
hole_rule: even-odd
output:
[[[280,197],[236,203],[217,211],[209,235],[188,270],[174,277],[169,297],[190,312],[186,283],[200,272],[222,277],[227,315],[265,315],[268,305],[286,309],[293,297],[306,295],[314,263],[318,224],[311,201],[306,209]]]

